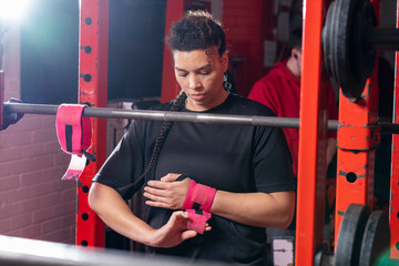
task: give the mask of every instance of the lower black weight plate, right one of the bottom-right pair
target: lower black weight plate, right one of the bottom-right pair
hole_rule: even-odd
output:
[[[389,249],[390,231],[388,214],[375,211],[367,221],[360,248],[359,266],[375,265],[378,256]]]

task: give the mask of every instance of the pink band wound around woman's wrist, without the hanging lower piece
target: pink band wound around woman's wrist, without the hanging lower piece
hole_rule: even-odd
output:
[[[215,188],[197,184],[192,180],[190,182],[186,198],[183,203],[183,208],[195,208],[208,212],[215,198]]]

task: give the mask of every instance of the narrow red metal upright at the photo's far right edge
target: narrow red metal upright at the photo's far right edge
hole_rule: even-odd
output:
[[[397,1],[397,28],[399,28],[399,1]],[[399,123],[399,52],[396,52],[395,68],[395,102],[393,102],[393,123]],[[391,196],[389,226],[390,228],[399,228],[399,135],[392,135],[392,154],[391,154]],[[399,259],[399,231],[391,229],[391,248],[390,257]]]

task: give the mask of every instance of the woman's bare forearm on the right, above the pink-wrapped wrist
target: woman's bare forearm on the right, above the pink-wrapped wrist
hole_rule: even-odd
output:
[[[213,214],[237,223],[286,228],[295,211],[295,193],[231,193],[216,191]]]

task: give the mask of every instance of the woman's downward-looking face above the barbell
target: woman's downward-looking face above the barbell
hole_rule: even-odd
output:
[[[173,51],[174,70],[177,83],[187,95],[186,108],[192,111],[206,111],[227,98],[223,89],[223,75],[228,66],[228,55],[222,57],[217,48]]]

